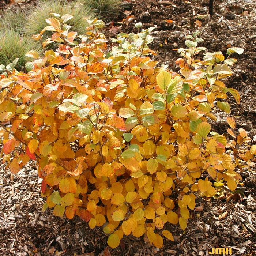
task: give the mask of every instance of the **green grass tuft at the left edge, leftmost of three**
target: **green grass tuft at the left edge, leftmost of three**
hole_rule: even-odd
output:
[[[39,50],[39,47],[26,35],[20,35],[14,29],[0,32],[0,64],[7,66],[19,58],[16,68],[22,70],[31,58],[25,56],[29,50]]]

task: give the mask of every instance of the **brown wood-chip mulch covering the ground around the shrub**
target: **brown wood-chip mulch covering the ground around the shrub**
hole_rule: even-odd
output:
[[[34,4],[28,0],[9,5],[0,0],[0,8],[26,8]],[[175,60],[179,57],[174,48],[184,47],[185,36],[195,30],[202,32],[208,51],[222,51],[234,46],[244,48],[232,66],[233,76],[226,79],[226,86],[238,90],[241,103],[228,99],[230,116],[237,128],[244,128],[256,143],[256,1],[215,0],[214,15],[208,14],[208,0],[133,0],[114,23],[104,31],[109,39],[120,31],[136,32],[135,22],[143,28],[155,26],[154,41],[158,65],[169,65],[178,71]],[[198,16],[198,15],[203,15]],[[124,20],[123,20],[124,19]],[[225,133],[226,115],[216,113],[218,120],[212,128]],[[42,213],[44,199],[40,196],[40,179],[33,162],[19,175],[13,175],[0,166],[0,256],[52,256],[52,255],[207,255],[211,248],[232,248],[233,255],[256,253],[256,176],[255,169],[244,168],[240,173],[243,187],[232,195],[223,188],[219,200],[199,198],[195,211],[183,232],[176,225],[166,226],[174,242],[165,239],[161,249],[154,248],[146,239],[124,237],[120,246],[111,249],[107,235],[100,227],[90,230],[78,217],[71,221],[55,217],[51,210]],[[240,196],[242,195],[242,197]]]

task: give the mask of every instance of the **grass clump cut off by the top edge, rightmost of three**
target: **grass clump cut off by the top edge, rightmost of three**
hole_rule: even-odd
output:
[[[84,7],[89,7],[101,19],[111,21],[118,17],[121,10],[121,0],[78,0]]]

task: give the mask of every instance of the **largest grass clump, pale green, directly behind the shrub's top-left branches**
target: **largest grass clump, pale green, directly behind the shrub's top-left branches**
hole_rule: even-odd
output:
[[[57,13],[60,16],[68,13],[74,16],[74,19],[69,20],[68,25],[71,26],[71,30],[77,31],[78,34],[83,34],[86,31],[87,23],[84,18],[91,19],[95,16],[94,12],[90,11],[86,6],[70,3],[65,0],[42,0],[35,9],[30,10],[30,15],[27,16],[24,24],[25,33],[30,37],[40,33],[47,25],[45,20],[51,13]],[[67,26],[64,30],[68,31],[69,27]],[[48,38],[51,36],[51,33],[50,31],[46,31],[44,35]],[[51,46],[50,44],[48,47],[55,49],[57,48],[57,44],[55,46]]]

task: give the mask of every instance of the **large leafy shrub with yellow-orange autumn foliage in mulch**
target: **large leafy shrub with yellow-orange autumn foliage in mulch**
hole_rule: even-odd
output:
[[[243,50],[229,48],[226,60],[221,52],[202,54],[195,32],[187,49],[177,49],[179,75],[148,56],[156,54],[148,48],[152,27],[118,34],[106,53],[101,20],[87,20],[75,45],[77,33],[63,30],[72,16],[54,15],[34,39],[53,31],[42,45],[58,42],[56,51],[44,49],[43,59],[30,51],[31,71],[1,75],[3,162],[18,173],[35,160],[43,210],[103,226],[112,248],[129,234],[161,248],[164,237],[173,241],[166,222],[184,230],[196,197],[214,196],[213,182],[234,191],[236,170],[254,164],[256,146],[233,118],[228,137],[209,123],[213,110],[230,112],[229,93],[240,101],[222,78],[232,74],[231,54]]]

